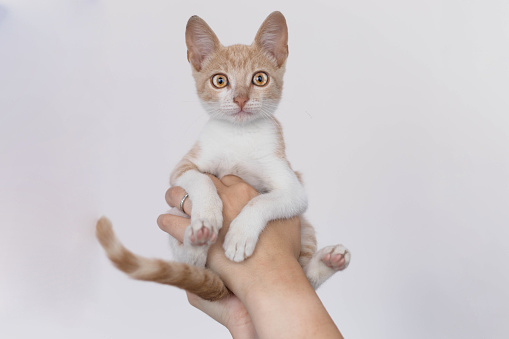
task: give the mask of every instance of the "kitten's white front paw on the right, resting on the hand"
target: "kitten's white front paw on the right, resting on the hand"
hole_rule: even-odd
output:
[[[253,254],[259,236],[259,227],[238,219],[232,221],[223,244],[226,257],[235,262],[244,261]]]

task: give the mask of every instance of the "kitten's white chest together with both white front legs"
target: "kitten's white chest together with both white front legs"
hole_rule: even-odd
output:
[[[234,125],[210,120],[197,146],[192,161],[198,171],[193,166],[175,181],[192,197],[190,231],[186,232],[210,227],[210,234],[217,234],[222,225],[221,199],[212,180],[203,173],[218,177],[235,174],[262,193],[251,199],[230,225],[223,247],[231,260],[242,261],[253,253],[260,232],[270,220],[294,217],[306,210],[306,193],[284,157],[276,121],[260,119]],[[196,247],[188,250],[191,253]]]

